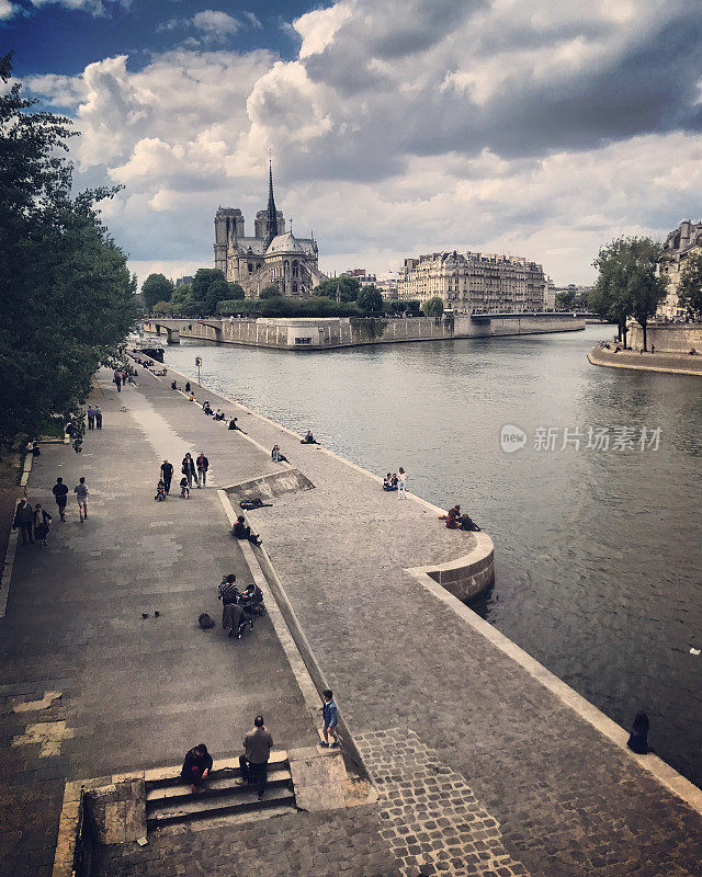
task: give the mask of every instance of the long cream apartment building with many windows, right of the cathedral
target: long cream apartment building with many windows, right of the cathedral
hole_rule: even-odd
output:
[[[535,262],[511,255],[437,252],[406,259],[397,284],[400,300],[438,296],[468,314],[542,311],[547,281]]]

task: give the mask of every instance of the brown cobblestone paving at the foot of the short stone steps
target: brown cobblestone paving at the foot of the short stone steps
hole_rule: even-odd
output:
[[[376,808],[294,813],[233,829],[161,829],[148,847],[109,850],[99,877],[399,877]]]

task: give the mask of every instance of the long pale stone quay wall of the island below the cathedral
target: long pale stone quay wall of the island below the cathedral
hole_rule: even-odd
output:
[[[585,318],[574,317],[571,314],[507,314],[485,317],[461,314],[452,319],[440,320],[430,317],[387,320],[338,317],[257,320],[147,318],[144,328],[157,334],[167,332],[169,342],[176,343],[182,335],[278,350],[324,350],[407,341],[571,332],[585,329]]]

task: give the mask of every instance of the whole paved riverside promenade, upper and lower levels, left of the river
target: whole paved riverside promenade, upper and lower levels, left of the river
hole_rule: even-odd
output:
[[[32,469],[27,494],[52,514],[56,476],[71,490],[86,476],[89,517],[69,502],[47,547],[16,550],[0,618],[0,873],[52,874],[66,781],[176,764],[201,740],[215,758],[238,752],[258,711],[276,748],[315,743],[271,619],[239,641],[196,623],[217,618],[225,573],[251,577],[220,491],[236,509],[258,490],[271,506],[247,512],[263,539],[254,553],[333,688],[377,801],[159,830],[143,848],[112,850],[105,875],[699,875],[702,796],[630,753],[624,731],[423,571],[469,554],[473,534],[193,385],[247,434],[227,430],[172,379],[184,383],[139,369],[117,394],[101,373],[103,430],[80,455],[46,446]],[[271,460],[274,444],[290,466]],[[207,487],[154,502],[161,462],[176,488],[185,451],[207,455]]]

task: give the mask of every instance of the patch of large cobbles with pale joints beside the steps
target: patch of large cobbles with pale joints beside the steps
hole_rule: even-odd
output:
[[[423,865],[446,877],[529,877],[463,776],[414,731],[364,733],[356,744],[380,793],[381,834],[403,877],[415,877]]]

